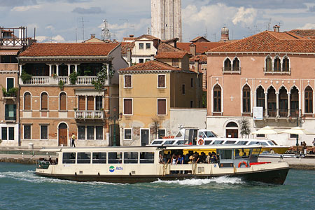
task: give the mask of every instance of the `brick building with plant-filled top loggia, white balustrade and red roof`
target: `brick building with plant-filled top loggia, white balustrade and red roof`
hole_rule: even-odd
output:
[[[72,134],[77,146],[113,145],[117,71],[127,66],[120,51],[118,43],[36,43],[22,52],[21,145],[71,146]]]

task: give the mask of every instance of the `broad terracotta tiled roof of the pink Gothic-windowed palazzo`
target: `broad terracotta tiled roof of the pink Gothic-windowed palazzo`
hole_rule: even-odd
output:
[[[209,52],[315,52],[315,40],[297,39],[285,32],[263,31]]]

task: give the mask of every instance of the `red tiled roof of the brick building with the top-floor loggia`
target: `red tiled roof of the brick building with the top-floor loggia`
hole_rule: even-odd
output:
[[[33,43],[20,57],[107,56],[119,43]]]

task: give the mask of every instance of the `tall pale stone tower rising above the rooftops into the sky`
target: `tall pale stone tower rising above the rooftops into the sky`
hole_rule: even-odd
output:
[[[181,0],[151,0],[151,32],[162,40],[182,40]]]

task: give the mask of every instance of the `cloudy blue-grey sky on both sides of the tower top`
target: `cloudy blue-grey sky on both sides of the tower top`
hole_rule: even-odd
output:
[[[151,27],[150,0],[0,0],[0,26],[28,28],[38,42],[80,42],[102,38],[104,20],[111,38],[141,36]],[[207,36],[218,41],[257,34],[274,25],[280,31],[315,29],[314,0],[182,0],[183,41]],[[84,25],[84,27],[83,27]],[[84,30],[83,30],[84,29]]]

